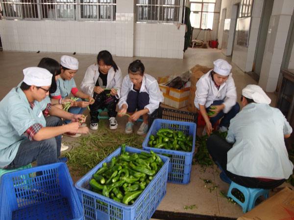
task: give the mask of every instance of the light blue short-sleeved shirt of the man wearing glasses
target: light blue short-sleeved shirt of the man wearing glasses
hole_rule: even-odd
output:
[[[27,140],[24,132],[36,123],[46,127],[40,106],[31,109],[23,90],[12,88],[0,101],[0,168],[14,160],[21,142]]]

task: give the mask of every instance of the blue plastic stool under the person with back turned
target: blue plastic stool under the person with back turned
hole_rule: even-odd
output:
[[[240,201],[238,198],[232,195],[233,189],[238,189],[243,193],[245,197],[244,202]],[[234,199],[235,202],[242,206],[243,212],[246,213],[247,211],[250,211],[254,208],[254,203],[258,197],[264,196],[267,199],[269,197],[269,192],[270,190],[268,189],[247,188],[232,181],[227,193],[227,197]]]

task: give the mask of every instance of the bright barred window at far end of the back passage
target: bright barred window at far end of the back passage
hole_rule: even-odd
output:
[[[216,0],[190,0],[190,22],[194,28],[211,29]]]

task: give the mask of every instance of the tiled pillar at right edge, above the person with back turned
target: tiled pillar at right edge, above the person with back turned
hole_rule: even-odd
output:
[[[274,0],[258,85],[267,92],[277,87],[294,9],[294,0]]]

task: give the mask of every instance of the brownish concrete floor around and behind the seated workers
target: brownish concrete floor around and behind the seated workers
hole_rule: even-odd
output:
[[[19,84],[23,80],[22,70],[28,66],[37,66],[41,58],[50,57],[60,61],[61,53],[27,53],[27,52],[9,52],[0,51],[0,68],[1,68],[1,82],[0,82],[0,100],[9,92],[9,90]],[[69,54],[71,55],[71,54]],[[72,55],[79,61],[79,70],[74,76],[76,85],[78,86],[88,66],[96,62],[97,55]],[[184,59],[160,59],[160,58],[146,58],[146,57],[114,57],[118,66],[122,69],[123,76],[127,74],[128,65],[136,60],[141,59],[145,65],[146,73],[157,78],[158,76],[167,76],[178,74],[186,71],[196,64],[202,66],[213,67],[213,61],[216,59],[224,59],[231,63],[231,57],[224,56],[218,49],[199,49],[188,48],[185,52]],[[240,102],[241,91],[247,84],[257,84],[248,74],[242,72],[237,66],[232,64],[232,73],[235,80],[238,93],[238,101]],[[271,98],[271,106],[275,106],[275,93],[268,93]],[[167,107],[167,106],[164,106]],[[182,108],[181,110],[187,110]],[[88,114],[88,112],[84,112]],[[89,124],[89,117],[87,118]],[[118,117],[119,129],[123,131],[126,123],[125,117]],[[139,127],[139,125],[137,125]],[[135,131],[136,131],[135,127]],[[203,128],[199,128],[197,134],[201,134]],[[64,141],[72,141],[73,138],[64,137]],[[71,148],[70,148],[71,149]],[[69,149],[69,150],[70,150]],[[190,213],[206,216],[238,218],[243,215],[242,208],[239,205],[234,205],[219,195],[220,191],[227,192],[229,185],[222,182],[219,177],[220,170],[214,166],[209,167],[203,172],[203,168],[199,165],[192,166],[191,182],[188,185],[181,184],[167,184],[167,194],[158,206],[157,210]],[[73,182],[79,178],[74,176]],[[210,179],[218,189],[210,193],[208,187],[204,187],[202,179]],[[283,186],[290,186],[284,183]],[[274,192],[270,192],[270,196]],[[193,209],[184,209],[184,206],[195,205]],[[203,218],[205,219],[205,218]]]

